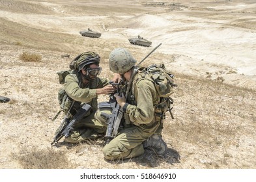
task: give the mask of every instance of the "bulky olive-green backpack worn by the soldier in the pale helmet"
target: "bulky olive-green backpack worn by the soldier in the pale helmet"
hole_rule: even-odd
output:
[[[174,93],[173,87],[177,86],[174,83],[174,75],[165,69],[164,64],[152,64],[147,68],[139,68],[139,71],[139,79],[149,79],[152,81],[160,97],[160,103],[155,105],[156,120],[162,121],[167,111],[170,112],[171,118],[174,119],[171,112],[173,109],[173,98],[170,97],[171,94]],[[134,84],[137,83],[139,79],[135,80]]]

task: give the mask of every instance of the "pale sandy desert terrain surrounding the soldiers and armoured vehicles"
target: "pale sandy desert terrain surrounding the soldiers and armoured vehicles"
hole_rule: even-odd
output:
[[[256,1],[0,0],[0,168],[256,168]],[[100,38],[81,36],[91,28]],[[150,47],[132,45],[140,35]],[[126,47],[143,66],[174,73],[172,120],[165,118],[167,155],[147,149],[134,159],[105,161],[104,138],[51,146],[61,119],[57,72],[78,54],[101,57]],[[40,55],[36,62],[23,53]],[[70,57],[61,57],[68,54]],[[100,96],[98,101],[106,101]],[[61,140],[62,141],[62,140]]]

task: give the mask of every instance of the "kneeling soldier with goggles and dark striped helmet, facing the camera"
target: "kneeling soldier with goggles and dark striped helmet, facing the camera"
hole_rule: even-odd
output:
[[[116,88],[108,85],[108,79],[98,77],[102,71],[99,64],[100,56],[97,53],[91,51],[82,53],[72,61],[74,72],[65,77],[64,90],[68,97],[75,101],[74,107],[80,107],[83,103],[89,103],[92,107],[91,112],[76,123],[74,131],[65,138],[66,142],[83,142],[95,139],[106,132],[106,127],[94,120],[97,98],[100,94],[115,92]],[[118,77],[115,75],[113,80],[117,81]]]

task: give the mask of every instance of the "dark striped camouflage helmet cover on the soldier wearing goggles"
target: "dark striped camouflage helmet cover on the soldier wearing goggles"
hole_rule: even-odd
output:
[[[81,55],[78,55],[74,59],[74,69],[81,71],[85,66],[90,65],[90,64],[97,64],[100,63],[100,56],[97,53],[88,51],[85,53],[81,53]]]

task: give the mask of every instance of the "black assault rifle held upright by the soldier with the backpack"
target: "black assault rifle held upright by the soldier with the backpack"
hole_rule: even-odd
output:
[[[120,83],[113,83],[110,82],[111,85],[113,86],[117,86],[117,94],[119,94],[119,96],[122,95],[122,81]],[[99,103],[99,108],[109,108],[112,110],[111,114],[106,114],[104,112],[102,112],[100,115],[103,118],[106,118],[106,123],[107,123],[107,130],[106,130],[106,138],[107,141],[106,143],[108,144],[113,138],[115,138],[115,136],[117,136],[118,133],[118,129],[120,127],[120,123],[122,120],[122,109],[119,105],[119,103],[117,103],[117,99],[115,99],[114,94],[111,94],[109,96],[109,101],[108,102],[102,102]]]

